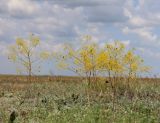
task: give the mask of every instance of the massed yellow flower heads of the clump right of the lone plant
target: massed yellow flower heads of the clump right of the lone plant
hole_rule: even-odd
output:
[[[84,38],[92,40],[92,37],[88,35]],[[66,55],[69,56],[69,60],[64,59],[64,61],[69,61],[70,67],[89,75],[93,74],[93,76],[98,72],[110,72],[112,76],[115,76],[135,74],[140,70],[146,70],[142,64],[143,60],[134,54],[133,50],[127,51],[125,45],[120,41],[107,43],[103,48],[95,43],[82,45],[79,49],[70,46],[66,48],[66,51],[68,51]]]

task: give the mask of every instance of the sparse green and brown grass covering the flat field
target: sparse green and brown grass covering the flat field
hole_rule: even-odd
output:
[[[116,83],[85,81],[44,83],[1,83],[0,123],[8,123],[12,111],[15,123],[159,123],[160,83],[140,79]]]

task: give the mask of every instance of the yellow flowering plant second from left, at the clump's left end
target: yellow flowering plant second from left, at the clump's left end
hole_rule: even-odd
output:
[[[92,37],[84,36],[85,40],[91,40]],[[81,45],[78,48],[73,48],[72,45],[66,44],[63,53],[59,53],[58,66],[62,69],[70,70],[79,76],[85,76],[90,84],[97,74],[97,44],[90,42],[86,45]],[[62,62],[63,61],[63,62]],[[68,64],[66,64],[68,63]],[[64,64],[64,65],[62,65]],[[62,66],[65,66],[62,67]]]

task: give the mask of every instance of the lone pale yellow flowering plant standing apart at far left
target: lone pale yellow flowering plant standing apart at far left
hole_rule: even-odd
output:
[[[9,47],[9,60],[20,65],[18,68],[18,72],[21,72],[21,69],[22,71],[25,70],[29,75],[29,79],[33,74],[33,68],[35,64],[37,62],[40,62],[42,59],[47,59],[49,57],[48,52],[36,51],[36,48],[38,48],[39,45],[39,37],[31,34],[29,35],[28,40],[17,38],[16,43]]]

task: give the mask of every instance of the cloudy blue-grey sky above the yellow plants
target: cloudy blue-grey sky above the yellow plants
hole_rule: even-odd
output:
[[[0,0],[0,74],[15,73],[7,47],[37,34],[44,49],[60,50],[85,34],[99,44],[121,40],[137,49],[153,74],[160,73],[159,0]],[[43,65],[42,73],[60,72]],[[65,74],[65,73],[64,73]]]

